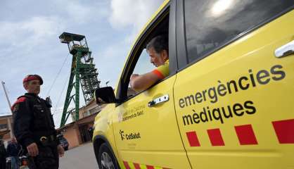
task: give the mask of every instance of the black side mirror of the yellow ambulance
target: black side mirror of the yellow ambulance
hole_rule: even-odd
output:
[[[115,92],[113,87],[101,87],[95,91],[96,104],[115,104]]]

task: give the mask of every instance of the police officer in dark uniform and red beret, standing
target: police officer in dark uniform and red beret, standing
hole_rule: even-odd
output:
[[[18,142],[33,158],[37,169],[55,169],[63,147],[56,138],[51,103],[41,99],[38,94],[43,80],[39,75],[27,75],[23,87],[27,93],[18,97],[13,104],[13,132]]]

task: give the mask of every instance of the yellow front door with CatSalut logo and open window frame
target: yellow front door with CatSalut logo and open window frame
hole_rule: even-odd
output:
[[[174,111],[175,68],[170,68],[170,76],[146,91],[134,92],[128,85],[131,74],[141,75],[155,69],[144,48],[152,37],[168,36],[168,24],[174,24],[173,10],[167,7],[139,37],[120,78],[117,95],[123,101],[116,107],[113,127],[118,155],[122,159],[120,163],[124,168],[191,168]],[[174,38],[174,26],[170,30],[173,30],[170,38]],[[177,64],[175,48],[169,53],[170,65]],[[126,92],[127,98],[124,99]]]

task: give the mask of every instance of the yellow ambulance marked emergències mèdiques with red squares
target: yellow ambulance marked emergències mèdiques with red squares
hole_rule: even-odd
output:
[[[164,1],[136,38],[94,123],[103,168],[294,168],[294,1]],[[139,14],[138,14],[139,15]],[[154,69],[146,44],[165,35],[170,74],[134,92]]]

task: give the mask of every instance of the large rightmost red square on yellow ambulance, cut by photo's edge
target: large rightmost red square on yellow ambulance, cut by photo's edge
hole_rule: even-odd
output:
[[[294,143],[294,119],[272,122],[280,144]]]

